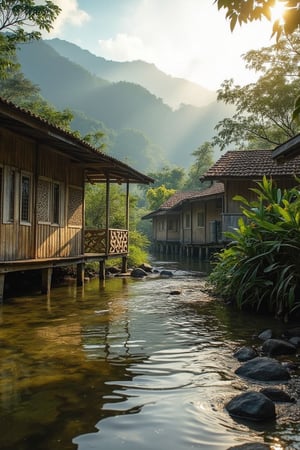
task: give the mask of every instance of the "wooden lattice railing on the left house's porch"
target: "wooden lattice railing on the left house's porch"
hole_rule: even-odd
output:
[[[128,230],[86,229],[85,253],[101,255],[124,255],[128,253]]]

